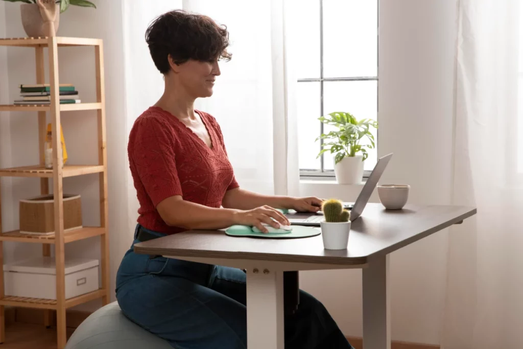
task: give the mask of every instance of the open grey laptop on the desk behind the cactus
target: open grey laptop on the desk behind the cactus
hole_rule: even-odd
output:
[[[370,196],[374,191],[374,188],[376,188],[376,185],[378,185],[378,181],[380,180],[381,175],[385,171],[385,167],[389,163],[391,157],[392,153],[380,157],[380,159],[376,163],[376,166],[374,166],[374,168],[372,169],[369,178],[367,178],[367,182],[363,186],[363,189],[361,189],[361,192],[358,195],[358,198],[356,199],[354,204],[352,204],[351,202],[343,203],[344,208],[350,210],[351,222],[358,219],[358,217],[361,216],[363,209],[367,205],[367,202],[369,201]],[[293,210],[290,210],[289,213],[287,213],[285,216],[287,217],[287,219],[289,219],[291,225],[294,226],[320,227],[320,222],[324,220],[323,212],[321,211],[295,212]]]

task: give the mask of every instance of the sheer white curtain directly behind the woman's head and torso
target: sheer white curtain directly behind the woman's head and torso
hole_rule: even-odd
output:
[[[208,15],[229,30],[232,60],[220,63],[221,76],[213,96],[198,99],[195,107],[220,123],[238,182],[259,193],[296,195],[298,156],[293,152],[297,153],[297,142],[289,101],[294,84],[287,84],[285,73],[286,26],[281,1],[124,1],[129,130],[134,119],[163,92],[162,77],[150,58],[144,33],[152,19],[172,9]],[[135,209],[134,201],[130,211]]]

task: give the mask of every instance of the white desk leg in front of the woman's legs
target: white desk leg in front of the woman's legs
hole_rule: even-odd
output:
[[[283,349],[283,272],[247,269],[247,348]]]

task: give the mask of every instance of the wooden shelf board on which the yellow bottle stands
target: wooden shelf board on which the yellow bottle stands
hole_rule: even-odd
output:
[[[104,172],[103,165],[65,165],[62,176],[73,177],[100,172]],[[0,177],[52,178],[53,170],[41,165],[0,168]]]

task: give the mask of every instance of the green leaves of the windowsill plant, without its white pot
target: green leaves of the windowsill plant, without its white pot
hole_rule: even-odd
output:
[[[374,135],[369,130],[370,127],[378,128],[378,122],[372,119],[357,120],[353,115],[344,111],[335,111],[318,118],[325,125],[332,125],[337,130],[322,133],[316,141],[322,139],[322,150],[316,159],[323,153],[330,151],[336,153],[334,163],[342,161],[345,156],[356,156],[358,153],[363,155],[365,161],[369,154],[367,149],[376,147]],[[370,144],[361,144],[364,139],[368,139]]]

